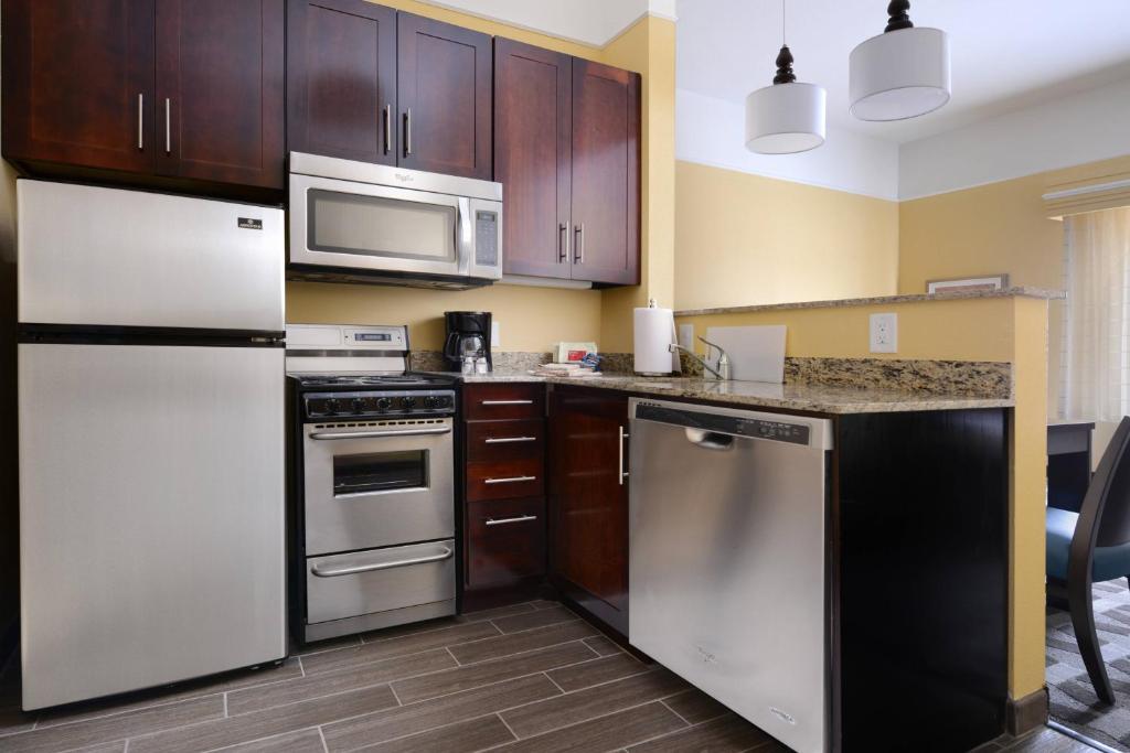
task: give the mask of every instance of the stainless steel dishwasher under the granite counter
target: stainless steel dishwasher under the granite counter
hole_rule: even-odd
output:
[[[631,643],[824,753],[832,422],[643,399],[629,415]]]

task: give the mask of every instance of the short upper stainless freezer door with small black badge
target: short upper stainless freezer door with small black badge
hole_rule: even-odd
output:
[[[282,210],[17,183],[25,324],[281,331]]]

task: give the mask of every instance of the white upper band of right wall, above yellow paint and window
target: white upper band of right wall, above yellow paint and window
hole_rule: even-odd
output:
[[[898,198],[919,199],[1127,154],[1130,79],[902,145]]]

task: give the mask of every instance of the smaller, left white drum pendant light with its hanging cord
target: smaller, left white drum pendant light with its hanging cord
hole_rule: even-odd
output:
[[[798,84],[792,52],[785,43],[781,0],[781,52],[773,86],[746,97],[746,148],[763,155],[790,155],[824,143],[827,94],[815,84]]]

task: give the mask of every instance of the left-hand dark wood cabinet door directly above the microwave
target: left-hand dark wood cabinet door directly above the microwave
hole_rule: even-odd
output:
[[[366,0],[290,0],[292,151],[397,164],[397,11]]]

